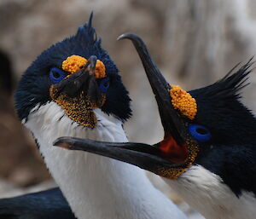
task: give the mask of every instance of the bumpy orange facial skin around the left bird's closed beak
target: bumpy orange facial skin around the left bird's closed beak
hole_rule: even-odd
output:
[[[78,72],[86,65],[87,60],[79,55],[71,55],[62,62],[62,69],[70,72],[67,78],[73,73]],[[95,78],[105,78],[106,69],[102,61],[96,61]],[[49,89],[49,95],[61,108],[64,109],[67,116],[80,125],[93,129],[96,127],[97,118],[93,109],[100,108],[106,101],[106,95],[102,93],[98,104],[90,100],[90,96],[82,91],[76,97],[70,97],[66,94],[59,93],[56,84],[52,84]]]

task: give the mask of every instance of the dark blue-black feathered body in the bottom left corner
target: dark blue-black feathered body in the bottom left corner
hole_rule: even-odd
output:
[[[0,199],[0,219],[75,219],[59,188]]]

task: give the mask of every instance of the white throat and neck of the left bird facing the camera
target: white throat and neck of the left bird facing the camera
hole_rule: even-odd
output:
[[[52,146],[61,136],[127,141],[118,119],[99,109],[95,112],[99,122],[93,130],[73,122],[55,102],[35,107],[24,122],[75,215],[79,219],[185,218],[136,166]]]

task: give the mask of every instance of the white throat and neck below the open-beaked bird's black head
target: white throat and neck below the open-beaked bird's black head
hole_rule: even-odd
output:
[[[201,165],[191,166],[177,180],[165,181],[207,219],[255,218],[253,193],[244,191],[237,197],[219,176]]]

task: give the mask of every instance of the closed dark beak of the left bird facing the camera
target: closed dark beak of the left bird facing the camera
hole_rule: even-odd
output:
[[[90,97],[90,101],[98,104],[102,93],[95,78],[96,61],[97,57],[91,55],[81,70],[69,75],[59,84],[54,84],[55,95],[64,94],[73,98],[84,92],[85,95]]]

